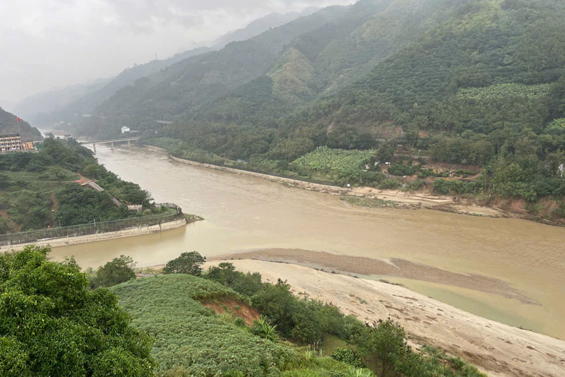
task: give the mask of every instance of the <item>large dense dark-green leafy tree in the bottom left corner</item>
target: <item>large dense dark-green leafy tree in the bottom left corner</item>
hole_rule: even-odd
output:
[[[49,247],[0,255],[0,376],[153,376],[151,340]]]

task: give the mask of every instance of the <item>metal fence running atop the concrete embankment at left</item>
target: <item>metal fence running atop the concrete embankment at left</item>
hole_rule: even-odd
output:
[[[159,213],[140,217],[128,217],[126,219],[110,220],[103,222],[92,222],[89,224],[71,225],[70,227],[54,227],[48,229],[32,230],[30,232],[8,233],[0,235],[0,246],[13,246],[18,244],[30,244],[37,241],[47,241],[66,237],[86,236],[88,234],[100,234],[117,232],[124,229],[140,227],[151,227],[161,225],[163,222],[184,219],[182,208],[173,203],[156,204],[157,207],[172,208],[177,213]]]

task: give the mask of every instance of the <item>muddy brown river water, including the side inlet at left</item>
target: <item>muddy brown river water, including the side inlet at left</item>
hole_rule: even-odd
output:
[[[357,208],[338,196],[174,162],[164,152],[97,146],[97,157],[157,203],[180,205],[206,220],[160,234],[54,249],[97,267],[121,254],[138,266],[183,251],[216,256],[292,248],[369,258],[404,258],[456,273],[496,277],[541,305],[417,280],[402,282],[460,309],[565,339],[565,228],[433,210]]]

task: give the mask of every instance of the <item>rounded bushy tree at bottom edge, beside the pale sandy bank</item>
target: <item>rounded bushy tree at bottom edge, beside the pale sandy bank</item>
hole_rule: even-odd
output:
[[[357,349],[378,377],[397,376],[396,364],[411,352],[405,338],[404,329],[391,318],[379,320],[357,337]]]

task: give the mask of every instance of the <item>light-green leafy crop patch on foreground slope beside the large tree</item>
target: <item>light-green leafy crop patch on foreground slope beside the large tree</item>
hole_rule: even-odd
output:
[[[160,371],[177,376],[277,376],[296,352],[252,335],[205,309],[198,300],[237,299],[216,282],[171,274],[112,287],[133,325],[155,337],[152,354]],[[242,374],[237,374],[242,373]]]

